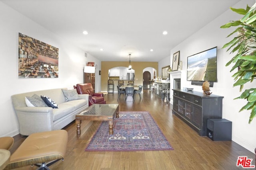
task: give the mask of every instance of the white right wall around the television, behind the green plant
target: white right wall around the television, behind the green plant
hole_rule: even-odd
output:
[[[252,6],[255,0],[241,0],[234,8],[246,8],[246,4]],[[233,100],[240,96],[239,87],[233,87],[234,80],[231,77],[235,72],[230,73],[231,66],[226,67],[225,64],[230,61],[233,55],[226,52],[227,49],[221,49],[225,43],[228,43],[233,37],[226,38],[234,28],[220,29],[221,25],[228,23],[231,20],[240,20],[241,15],[226,11],[208,25],[202,27],[194,35],[188,37],[185,41],[171,49],[173,53],[180,51],[180,61],[183,61],[183,69],[187,68],[187,57],[194,55],[206,49],[217,46],[217,76],[218,82],[214,82],[214,87],[210,88],[212,94],[224,96],[222,118],[232,121],[232,141],[242,145],[246,149],[254,152],[256,148],[256,118],[251,124],[248,124],[250,112],[242,111],[238,113],[240,108],[246,104],[245,100]],[[196,23],[195,23],[196,24]],[[188,28],[189,29],[189,28]],[[172,63],[172,60],[170,61]],[[186,84],[181,84],[182,87],[193,87],[195,91],[202,92],[201,86],[191,85],[190,81],[186,81],[186,74],[182,77]],[[251,86],[254,86],[253,82]],[[244,87],[246,89],[247,87]]]

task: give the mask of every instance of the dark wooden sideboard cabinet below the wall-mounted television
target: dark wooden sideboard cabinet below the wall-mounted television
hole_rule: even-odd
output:
[[[173,90],[172,113],[177,115],[200,136],[207,136],[207,119],[222,118],[222,96],[189,90]]]

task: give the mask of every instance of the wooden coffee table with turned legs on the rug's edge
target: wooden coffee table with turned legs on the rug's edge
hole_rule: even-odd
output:
[[[86,108],[84,111],[76,115],[76,134],[81,134],[81,122],[82,120],[92,121],[108,121],[109,134],[113,134],[113,119],[114,116],[119,118],[118,115],[119,105],[118,104],[93,104]]]

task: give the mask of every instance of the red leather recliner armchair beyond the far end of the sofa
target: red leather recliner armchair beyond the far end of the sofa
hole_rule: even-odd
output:
[[[89,106],[92,104],[106,104],[103,93],[94,93],[91,83],[74,85],[78,94],[89,94]]]

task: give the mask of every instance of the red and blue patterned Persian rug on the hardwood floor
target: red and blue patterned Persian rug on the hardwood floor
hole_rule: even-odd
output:
[[[120,111],[114,118],[113,135],[102,121],[85,151],[173,150],[147,111]]]

